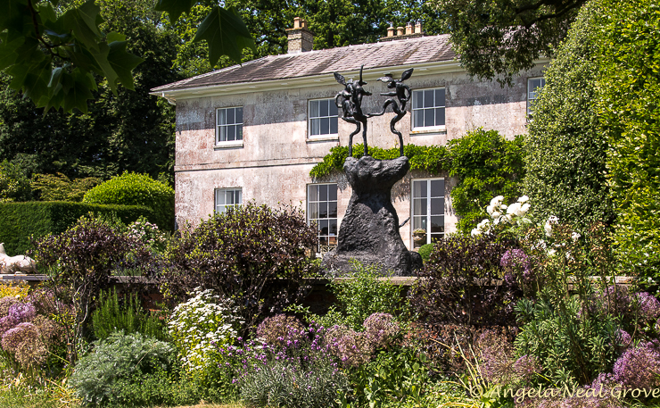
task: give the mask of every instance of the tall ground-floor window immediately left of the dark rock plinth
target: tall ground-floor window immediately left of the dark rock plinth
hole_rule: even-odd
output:
[[[307,187],[307,220],[318,228],[318,252],[337,245],[337,185],[310,184]]]

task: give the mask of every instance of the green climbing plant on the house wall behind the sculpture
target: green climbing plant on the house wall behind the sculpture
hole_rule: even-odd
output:
[[[354,146],[353,157],[362,157],[362,146]],[[523,137],[507,140],[497,130],[482,128],[467,132],[466,136],[450,140],[447,146],[404,146],[403,153],[410,162],[410,170],[441,172],[458,178],[451,190],[451,200],[460,221],[458,231],[469,234],[481,221],[483,208],[493,196],[504,196],[507,203],[521,195],[524,177]],[[369,147],[369,154],[378,160],[399,157],[399,148]],[[339,172],[349,155],[348,146],[336,146],[309,171],[319,179]]]

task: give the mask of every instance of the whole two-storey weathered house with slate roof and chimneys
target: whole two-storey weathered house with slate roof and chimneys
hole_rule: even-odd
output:
[[[193,223],[227,206],[301,205],[318,223],[321,249],[333,246],[351,187],[342,174],[312,179],[309,171],[334,146],[347,146],[354,125],[338,118],[334,96],[342,90],[333,76],[364,79],[373,96],[366,112],[377,112],[385,97],[376,79],[414,68],[408,114],[398,123],[406,145],[442,145],[483,127],[505,137],[526,132],[529,103],[543,84],[543,62],[521,72],[512,87],[466,75],[449,36],[424,36],[421,27],[389,29],[378,43],[312,50],[313,35],[296,19],[288,30],[288,53],[268,55],[194,78],[153,88],[153,95],[177,106],[176,217]],[[411,112],[410,112],[411,111]],[[368,146],[398,146],[389,122],[392,111],[372,118]],[[361,143],[357,135],[353,143]],[[401,237],[414,248],[455,230],[450,202],[456,180],[410,171],[392,189]],[[413,229],[425,229],[414,239]]]

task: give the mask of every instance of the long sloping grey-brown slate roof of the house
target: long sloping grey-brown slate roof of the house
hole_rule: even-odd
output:
[[[367,70],[424,62],[450,61],[455,56],[447,34],[406,38],[300,54],[268,55],[258,60],[245,62],[243,65],[234,65],[161,87],[154,87],[152,91],[293,79],[331,74],[334,71],[356,71],[362,64]]]

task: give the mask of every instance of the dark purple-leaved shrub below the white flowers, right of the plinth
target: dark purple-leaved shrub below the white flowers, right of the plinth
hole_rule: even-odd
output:
[[[488,235],[441,239],[418,272],[411,306],[433,324],[515,326],[522,292],[516,281],[502,279],[507,249],[507,242]]]

